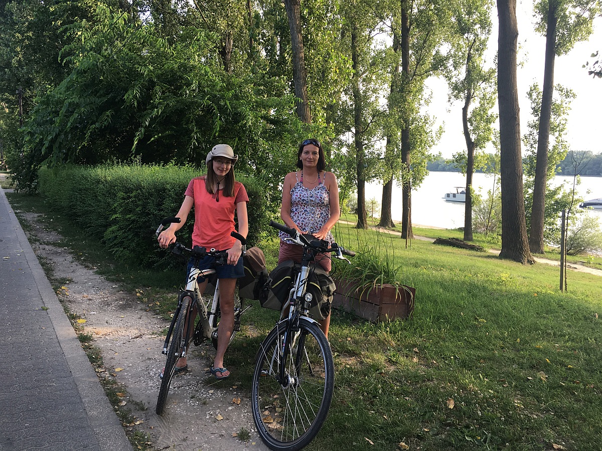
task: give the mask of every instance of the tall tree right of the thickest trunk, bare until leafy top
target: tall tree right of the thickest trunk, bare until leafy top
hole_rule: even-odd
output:
[[[554,60],[570,51],[577,41],[592,33],[592,22],[600,10],[598,0],[541,0],[535,4],[537,31],[545,35],[544,87],[539,135],[529,246],[531,252],[544,253],[545,187],[548,173],[548,143],[554,94]]]

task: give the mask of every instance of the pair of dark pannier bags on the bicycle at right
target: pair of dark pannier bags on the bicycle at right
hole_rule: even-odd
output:
[[[286,260],[270,272],[259,295],[259,302],[261,302],[262,307],[273,308],[274,310],[282,309],[297,274],[294,271],[295,266],[299,265],[293,260]],[[312,318],[324,319],[329,315],[335,289],[335,283],[326,274],[326,271],[317,263],[310,263],[307,292],[312,295],[312,301],[309,304],[309,314]]]

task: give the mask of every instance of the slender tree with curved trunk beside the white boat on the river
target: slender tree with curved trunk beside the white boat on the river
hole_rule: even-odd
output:
[[[473,173],[475,152],[484,149],[492,138],[497,116],[495,69],[486,69],[483,55],[491,34],[493,2],[461,0],[456,3],[452,20],[452,68],[445,71],[450,99],[462,100],[462,130],[466,153],[462,172],[466,174],[464,241],[473,241]]]

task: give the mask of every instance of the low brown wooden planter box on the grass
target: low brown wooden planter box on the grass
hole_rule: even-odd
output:
[[[335,280],[332,307],[351,311],[368,321],[391,321],[406,319],[414,313],[416,289],[406,285],[396,289],[393,285],[378,285],[369,293],[362,293],[357,285],[349,280]],[[361,299],[359,296],[361,295]]]

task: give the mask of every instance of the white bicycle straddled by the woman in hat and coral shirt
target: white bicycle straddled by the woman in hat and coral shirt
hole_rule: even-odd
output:
[[[172,222],[180,222],[180,218],[163,219],[157,229],[156,235],[158,236],[163,227]],[[244,237],[236,232],[232,232],[231,235],[243,244],[244,254],[244,245],[246,243]],[[199,262],[208,255],[216,258],[216,265],[226,265],[228,262],[227,251],[206,250],[200,246],[194,246],[192,249],[189,249],[178,242],[172,245],[172,252],[176,255],[188,253],[193,257],[194,263],[190,271],[188,271],[186,287],[178,296],[178,307],[173,313],[172,323],[169,325],[167,337],[163,344],[163,354],[167,355],[167,361],[163,370],[163,378],[161,379],[157,408],[155,408],[155,412],[158,415],[163,414],[167,401],[167,393],[169,392],[173,375],[176,372],[176,362],[179,358],[188,355],[188,345],[190,345],[190,342],[193,341],[194,345],[199,346],[205,339],[208,339],[213,343],[213,347],[217,349],[217,331],[221,316],[219,279],[216,280],[216,290],[213,299],[206,296],[203,298],[199,290],[197,278],[199,276],[208,277],[209,275],[216,274],[216,269],[199,269]],[[249,307],[250,305],[247,305],[243,309],[242,299],[237,295],[234,296],[234,330],[232,331],[229,343],[232,343],[237,331],[240,330],[240,317]],[[193,315],[190,314],[194,308],[196,308],[199,316],[196,327],[193,327]],[[190,323],[188,325],[185,324],[186,318],[188,318],[188,322]]]

